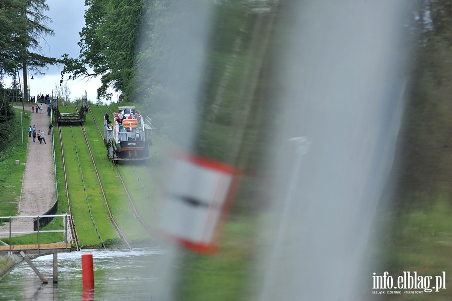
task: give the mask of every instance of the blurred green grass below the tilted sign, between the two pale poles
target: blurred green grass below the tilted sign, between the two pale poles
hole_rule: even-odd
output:
[[[184,252],[184,267],[175,285],[180,300],[241,300],[251,270],[253,220],[230,221],[218,254],[201,256]]]

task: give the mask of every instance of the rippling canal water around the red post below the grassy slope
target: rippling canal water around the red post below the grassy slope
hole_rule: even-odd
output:
[[[83,297],[81,255],[90,253],[94,296]],[[49,281],[43,284],[31,267],[19,263],[0,281],[0,300],[155,300],[162,271],[161,249],[84,250],[58,254],[58,283],[53,283],[53,255],[32,260]]]

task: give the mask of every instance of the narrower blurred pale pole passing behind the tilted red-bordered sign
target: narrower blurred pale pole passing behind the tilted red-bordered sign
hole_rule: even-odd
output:
[[[177,145],[178,152],[192,154],[197,143],[195,137],[195,129],[197,125],[197,117],[199,114],[199,103],[203,92],[203,76],[205,72],[205,58],[207,55],[207,45],[209,40],[209,21],[210,13],[213,6],[212,2],[205,1],[178,1],[165,3],[169,12],[168,24],[156,27],[156,36],[164,37],[165,56],[170,57],[167,60],[168,65],[159,69],[161,78],[170,77],[171,95],[176,99],[174,105],[174,116],[177,116],[175,124],[171,126],[175,128],[174,140]],[[152,14],[149,14],[144,22],[154,22]],[[162,18],[163,19],[163,18]],[[158,49],[161,51],[161,49]],[[149,73],[153,72],[153,66],[149,66]],[[168,153],[168,159],[171,153]],[[184,178],[189,181],[190,178]],[[193,178],[193,180],[195,180]],[[169,182],[170,180],[168,180]],[[166,183],[166,185],[169,185]],[[190,196],[183,195],[183,199],[188,203],[196,204]],[[180,214],[177,212],[177,214]],[[166,216],[165,216],[166,217]],[[177,219],[177,217],[176,217]],[[190,219],[188,219],[191,221]],[[180,220],[178,220],[180,221]],[[167,225],[174,219],[160,221],[161,224]],[[191,224],[187,225],[191,228]],[[165,231],[165,230],[163,230]],[[168,231],[167,231],[168,232]],[[161,262],[165,266],[162,272],[163,279],[160,285],[160,291],[152,292],[157,295],[158,300],[176,299],[178,287],[178,269],[175,262],[180,260],[181,250],[177,245],[166,245],[166,256],[162,257]]]

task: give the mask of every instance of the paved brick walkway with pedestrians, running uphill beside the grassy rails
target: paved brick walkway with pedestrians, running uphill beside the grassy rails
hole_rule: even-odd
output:
[[[22,107],[17,107],[22,109]],[[31,109],[28,108],[27,114]],[[36,126],[36,132],[41,130],[45,134],[46,144],[33,143],[33,137],[24,132],[24,141],[28,141],[27,161],[22,184],[21,200],[19,202],[19,216],[42,215],[55,203],[55,180],[52,155],[52,135],[49,132],[50,116],[47,116],[47,105],[43,104],[43,113],[36,111],[31,114],[31,126]],[[26,140],[27,139],[27,140]],[[12,231],[33,231],[33,221],[30,219],[16,219],[12,223]],[[0,232],[8,232],[9,224],[0,227]],[[5,237],[4,234],[1,235]],[[6,235],[8,236],[8,235]]]

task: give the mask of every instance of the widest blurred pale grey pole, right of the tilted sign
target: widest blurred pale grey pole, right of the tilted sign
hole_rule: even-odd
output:
[[[280,117],[269,139],[279,147],[268,153],[271,200],[261,224],[273,236],[258,250],[258,266],[265,268],[257,273],[262,287],[256,296],[370,299],[365,250],[390,186],[408,80],[411,8],[407,1],[280,6],[280,44],[271,58]],[[298,154],[287,140],[299,136],[312,144],[300,172],[293,172]]]

